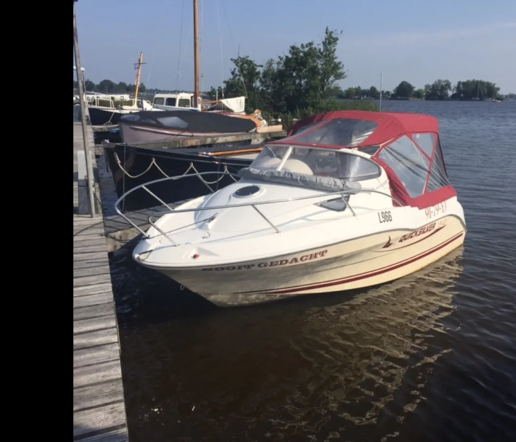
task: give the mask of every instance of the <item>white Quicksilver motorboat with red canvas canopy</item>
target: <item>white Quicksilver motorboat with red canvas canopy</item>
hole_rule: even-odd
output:
[[[235,306],[382,284],[464,241],[430,116],[319,114],[266,144],[238,175],[150,217],[136,262]],[[152,194],[151,185],[139,187]]]

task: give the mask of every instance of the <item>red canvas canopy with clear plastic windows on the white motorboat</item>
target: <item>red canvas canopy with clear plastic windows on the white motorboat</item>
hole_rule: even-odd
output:
[[[364,149],[385,170],[393,197],[423,209],[457,195],[438,133],[437,118],[428,115],[349,110],[304,118],[286,138],[270,144]]]

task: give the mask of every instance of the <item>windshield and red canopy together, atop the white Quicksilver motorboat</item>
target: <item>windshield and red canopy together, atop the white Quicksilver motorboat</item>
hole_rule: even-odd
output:
[[[434,117],[345,111],[300,123],[287,138],[266,144],[240,176],[306,187],[324,184],[335,191],[380,178],[381,167],[393,197],[404,205],[426,208],[457,195]]]

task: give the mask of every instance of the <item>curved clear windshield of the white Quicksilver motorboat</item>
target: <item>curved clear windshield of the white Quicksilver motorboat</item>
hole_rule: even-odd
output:
[[[381,169],[375,162],[352,152],[285,145],[264,146],[250,168],[329,176],[345,181],[374,179],[381,174]]]

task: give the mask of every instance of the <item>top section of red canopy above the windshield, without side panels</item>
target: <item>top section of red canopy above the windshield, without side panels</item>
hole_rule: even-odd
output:
[[[339,127],[341,126],[341,127]],[[349,143],[353,132],[372,132],[362,141]],[[298,121],[286,138],[273,141],[321,148],[342,149],[346,146],[365,147],[379,145],[407,133],[438,134],[437,118],[421,113],[369,112],[363,110],[340,110],[319,113]]]

